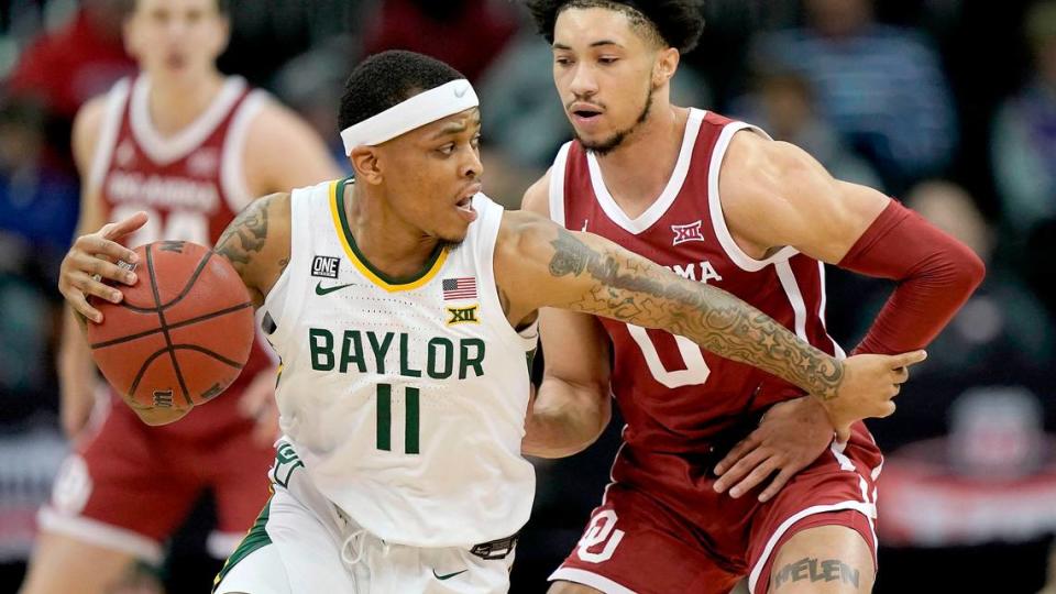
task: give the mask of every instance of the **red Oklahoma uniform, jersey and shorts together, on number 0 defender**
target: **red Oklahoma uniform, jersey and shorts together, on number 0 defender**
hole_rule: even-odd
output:
[[[748,124],[690,110],[682,148],[660,197],[629,218],[605,188],[594,155],[565,145],[551,169],[550,212],[754,305],[836,356],[825,330],[825,271],[783,248],[755,260],[734,241],[719,201],[730,140]],[[752,132],[745,132],[752,133]],[[603,592],[730,592],[745,576],[770,584],[773,551],[823,525],[855,530],[876,551],[876,479],[882,457],[855,424],[846,444],[793,476],[772,499],[713,488],[713,468],[770,405],[802,392],[763,371],[703,352],[683,337],[601,320],[612,338],[612,385],[627,421],[613,482],[576,548],[550,580]],[[649,568],[649,569],[646,569]],[[857,580],[857,578],[855,578]]]

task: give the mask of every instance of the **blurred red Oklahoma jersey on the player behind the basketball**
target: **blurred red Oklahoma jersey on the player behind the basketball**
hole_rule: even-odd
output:
[[[267,96],[240,77],[229,77],[212,103],[174,136],[162,136],[151,122],[146,76],[123,79],[110,91],[88,184],[98,189],[108,221],[136,211],[147,223],[125,242],[130,246],[161,239],[213,245],[234,216],[253,199],[245,184],[242,155],[253,117]],[[166,430],[198,435],[244,419],[238,393],[272,365],[257,337],[242,374],[228,393]]]

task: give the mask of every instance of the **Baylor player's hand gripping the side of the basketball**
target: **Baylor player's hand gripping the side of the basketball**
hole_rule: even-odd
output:
[[[134,264],[139,256],[118,243],[118,240],[145,223],[146,212],[141,211],[122,221],[105,224],[99,231],[80,235],[74,241],[59,268],[58,290],[76,312],[99,323],[102,321],[102,314],[88,305],[88,296],[95,295],[117,304],[123,295],[102,280],[135,284],[135,273],[125,271],[116,263],[124,261]]]

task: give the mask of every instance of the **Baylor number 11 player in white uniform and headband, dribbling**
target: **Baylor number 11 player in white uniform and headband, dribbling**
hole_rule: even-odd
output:
[[[904,380],[897,369],[923,358],[838,362],[721,290],[504,212],[481,194],[480,118],[450,66],[372,56],[341,106],[355,182],[263,198],[218,243],[282,359],[285,437],[275,494],[216,592],[505,592],[535,491],[520,450],[543,306],[676,331],[850,416],[882,410]],[[127,258],[111,240],[145,222],[135,215],[78,249]],[[91,317],[77,294],[97,287],[69,272],[86,267],[72,257],[61,286]]]

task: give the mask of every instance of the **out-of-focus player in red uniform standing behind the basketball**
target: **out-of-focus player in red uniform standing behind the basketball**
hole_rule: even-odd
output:
[[[221,0],[135,2],[125,41],[141,74],[85,105],[74,125],[81,232],[143,210],[148,223],[129,245],[162,238],[210,245],[252,197],[340,175],[305,122],[217,70],[226,14]],[[96,427],[88,422],[96,384],[89,350],[68,318],[62,418],[76,451],[41,510],[22,591],[109,591],[134,559],[161,559],[163,541],[207,488],[219,516],[211,552],[227,557],[267,498],[261,477],[277,437],[268,408],[273,363],[256,348],[231,392],[184,422],[147,427],[116,404]],[[251,414],[262,410],[261,418]]]

